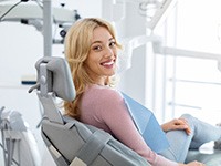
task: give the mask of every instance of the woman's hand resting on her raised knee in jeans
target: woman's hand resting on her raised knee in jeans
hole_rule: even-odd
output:
[[[191,133],[189,124],[185,118],[175,118],[170,122],[162,124],[161,128],[164,132],[183,129],[188,135]]]

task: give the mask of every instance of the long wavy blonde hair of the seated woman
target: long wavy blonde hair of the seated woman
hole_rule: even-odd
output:
[[[76,90],[76,97],[73,102],[64,102],[64,110],[65,114],[77,120],[81,116],[81,111],[78,108],[81,96],[86,86],[94,83],[84,68],[84,62],[90,53],[94,29],[97,27],[106,28],[115,39],[117,48],[122,48],[116,40],[113,25],[109,22],[98,18],[86,18],[78,20],[70,28],[65,37],[65,58],[71,68],[73,82]],[[112,80],[108,79],[107,85],[110,84]]]

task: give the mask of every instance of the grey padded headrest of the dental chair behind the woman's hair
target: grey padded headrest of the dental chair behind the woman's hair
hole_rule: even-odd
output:
[[[48,81],[49,92],[54,92],[57,97],[64,101],[73,101],[75,87],[67,62],[63,58],[57,56],[43,56],[40,59],[35,63],[40,90],[42,82],[41,64],[45,64],[46,71],[50,73],[50,77],[45,77],[46,80],[51,79],[51,81]]]

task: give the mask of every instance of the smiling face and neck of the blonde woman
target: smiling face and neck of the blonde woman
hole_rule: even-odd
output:
[[[98,27],[93,32],[92,44],[85,61],[86,71],[97,84],[104,85],[107,76],[115,74],[117,46],[107,29]]]

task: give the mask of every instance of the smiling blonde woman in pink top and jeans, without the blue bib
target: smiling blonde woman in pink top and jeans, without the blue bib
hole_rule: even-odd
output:
[[[183,115],[161,125],[170,147],[160,154],[152,152],[137,131],[123,95],[113,87],[118,49],[114,29],[105,20],[83,19],[69,30],[65,56],[76,98],[64,103],[65,113],[110,133],[154,166],[202,166],[198,162],[182,164],[188,149],[221,138],[221,129]]]

